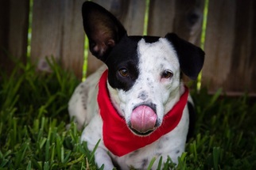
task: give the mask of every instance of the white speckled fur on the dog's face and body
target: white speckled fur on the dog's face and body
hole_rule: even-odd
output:
[[[141,40],[138,43],[138,58],[140,73],[138,79],[132,88],[126,92],[113,89],[111,85],[108,85],[111,101],[128,123],[134,106],[143,102],[143,100],[138,99],[138,95],[144,90],[148,94],[146,100],[157,105],[157,119],[161,122],[163,116],[173,108],[180,95],[184,93],[184,85],[180,81],[180,64],[176,52],[172,44],[164,38],[156,43],[145,43],[145,40]],[[164,70],[172,71],[173,77],[170,79],[162,78],[161,74]],[[99,116],[96,101],[97,82],[102,72],[103,70],[99,70],[79,85],[68,105],[69,114],[75,116],[79,127],[83,127],[84,123],[87,124],[87,127],[83,130],[81,141],[87,141],[88,149],[94,149],[95,144],[101,139],[99,148],[95,152],[95,162],[98,166],[104,164],[104,169],[114,168],[112,158],[121,169],[129,169],[130,167],[145,169],[152,158],[156,157],[157,160],[153,164],[153,169],[156,169],[160,157],[163,157],[165,162],[168,156],[177,164],[177,157],[180,157],[181,153],[184,152],[188,133],[187,106],[184,108],[177,127],[156,142],[122,157],[114,156],[112,153],[108,154],[109,151],[103,144],[103,122]],[[88,93],[87,100],[82,99],[84,96],[80,94],[81,91]],[[83,108],[83,101],[87,104],[87,110]]]

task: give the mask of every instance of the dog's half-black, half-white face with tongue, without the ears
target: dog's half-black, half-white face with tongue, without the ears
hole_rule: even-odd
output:
[[[180,63],[165,38],[124,39],[114,47],[107,61],[109,89],[115,108],[130,129],[145,135],[161,125],[164,114],[180,96]],[[152,39],[154,42],[149,43]],[[134,47],[127,48],[129,44]]]

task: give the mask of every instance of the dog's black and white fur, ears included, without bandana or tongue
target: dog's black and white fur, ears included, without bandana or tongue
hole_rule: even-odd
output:
[[[160,157],[163,162],[170,157],[177,163],[178,157],[184,152],[188,134],[188,106],[184,108],[180,123],[174,130],[150,145],[117,157],[109,152],[102,141],[103,121],[96,100],[97,83],[103,71],[108,69],[107,88],[111,102],[128,127],[131,113],[139,105],[152,108],[157,114],[157,126],[161,126],[164,115],[184,93],[180,72],[195,79],[203,66],[204,51],[173,33],[163,38],[127,36],[120,22],[93,2],[83,4],[83,26],[91,52],[106,66],[76,88],[68,103],[68,110],[80,128],[86,125],[81,141],[87,142],[88,149],[94,149],[101,139],[95,151],[95,162],[99,167],[104,164],[105,169],[114,168],[114,164],[121,169],[146,169],[153,157],[156,157],[157,163]],[[128,76],[120,74],[122,69]],[[192,103],[191,97],[189,101]],[[134,132],[134,135],[138,134]],[[153,164],[153,169],[157,168],[157,163]]]

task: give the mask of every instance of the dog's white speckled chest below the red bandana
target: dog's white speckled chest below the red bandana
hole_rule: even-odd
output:
[[[175,137],[178,131],[165,134],[156,142],[128,153],[123,157],[116,157],[113,154],[111,154],[111,157],[121,169],[130,169],[130,164],[136,169],[146,169],[150,161],[156,158],[152,169],[157,169],[161,157],[163,160],[167,160],[170,157],[173,161],[177,161],[176,157],[180,157],[180,154],[184,152],[184,142],[182,142],[184,139]]]

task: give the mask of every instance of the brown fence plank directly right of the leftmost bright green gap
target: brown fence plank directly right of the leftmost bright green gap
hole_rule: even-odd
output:
[[[50,71],[45,57],[54,56],[60,62],[60,44],[64,2],[37,0],[33,2],[31,59],[38,63],[38,70]]]

